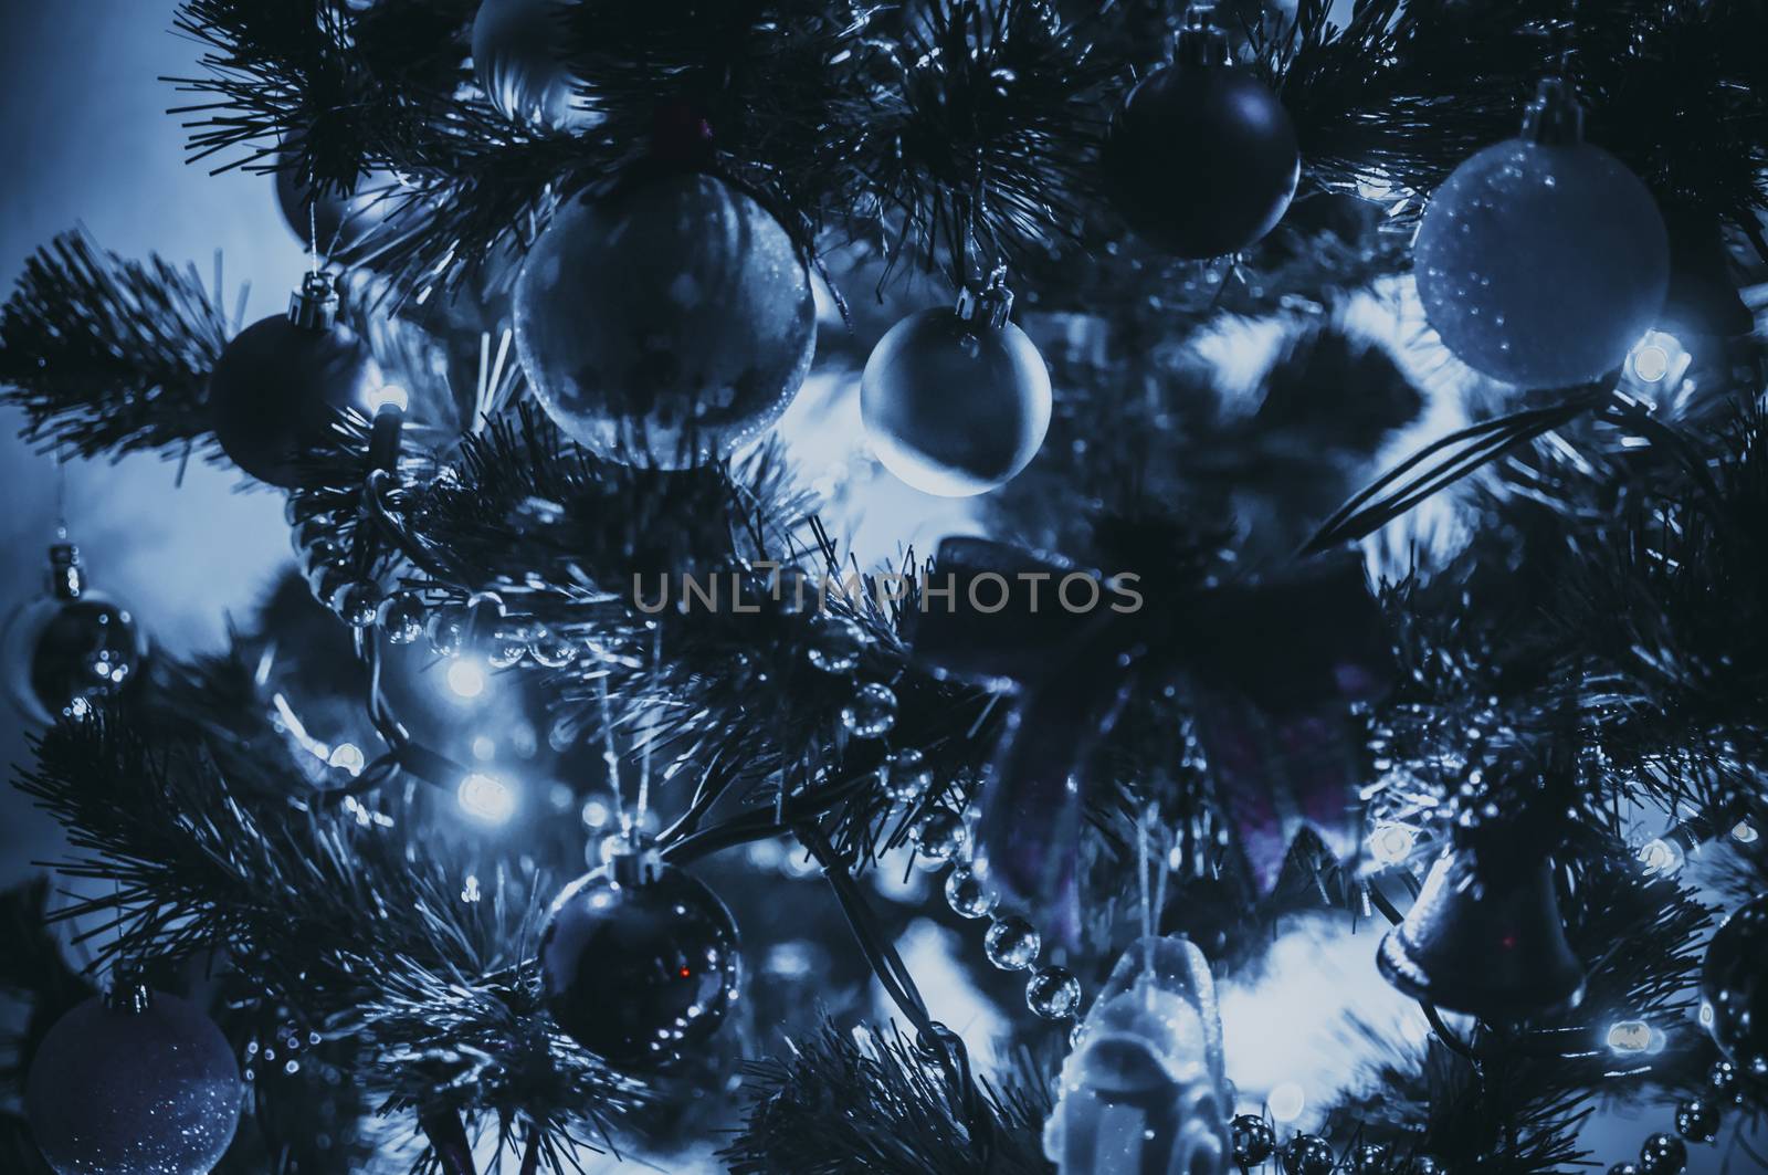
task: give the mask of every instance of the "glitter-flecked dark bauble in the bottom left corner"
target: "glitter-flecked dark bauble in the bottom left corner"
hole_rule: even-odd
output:
[[[37,1046],[25,1113],[57,1175],[200,1175],[239,1124],[239,1064],[194,1005],[87,1000]]]

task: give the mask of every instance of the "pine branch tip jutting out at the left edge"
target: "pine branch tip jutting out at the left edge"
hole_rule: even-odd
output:
[[[27,264],[0,317],[0,388],[25,439],[80,457],[209,449],[209,368],[230,326],[194,269],[133,262],[83,232]]]

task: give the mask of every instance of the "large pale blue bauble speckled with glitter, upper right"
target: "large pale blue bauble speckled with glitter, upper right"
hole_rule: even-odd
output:
[[[1413,269],[1425,317],[1467,366],[1524,388],[1614,370],[1669,288],[1651,193],[1589,143],[1506,140],[1430,196]]]

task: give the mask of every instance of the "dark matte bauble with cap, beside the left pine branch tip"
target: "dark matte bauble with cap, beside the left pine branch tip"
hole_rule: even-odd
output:
[[[329,311],[313,310],[327,299]],[[240,331],[209,373],[216,441],[260,481],[297,487],[302,453],[336,439],[339,412],[371,414],[380,366],[368,343],[331,317],[336,304],[329,280],[309,274],[288,315]]]

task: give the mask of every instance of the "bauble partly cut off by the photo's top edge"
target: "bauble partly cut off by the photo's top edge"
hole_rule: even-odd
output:
[[[583,106],[564,62],[566,0],[483,0],[472,21],[472,67],[484,96],[511,122],[582,131],[601,122]]]

